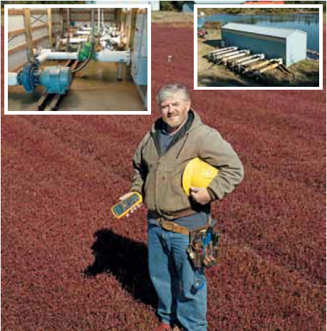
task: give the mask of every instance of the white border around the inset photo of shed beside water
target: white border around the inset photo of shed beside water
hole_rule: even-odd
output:
[[[308,4],[294,4],[294,5],[264,5],[260,4],[261,8],[317,8],[319,9],[319,86],[317,87],[303,87],[303,88],[287,88],[287,87],[198,87],[197,86],[197,10],[201,8],[256,8],[258,5],[194,5],[194,90],[323,90],[323,5],[308,6]]]

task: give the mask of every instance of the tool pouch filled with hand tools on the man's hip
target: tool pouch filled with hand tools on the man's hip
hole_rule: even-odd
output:
[[[190,231],[187,254],[194,268],[209,268],[218,263],[219,232],[213,226]]]

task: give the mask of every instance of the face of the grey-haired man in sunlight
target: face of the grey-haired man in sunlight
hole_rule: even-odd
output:
[[[185,101],[181,93],[175,93],[163,100],[159,105],[159,109],[168,130],[174,132],[186,121],[190,110],[190,101]]]

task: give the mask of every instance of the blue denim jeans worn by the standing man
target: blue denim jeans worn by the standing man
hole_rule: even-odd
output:
[[[150,278],[158,296],[162,322],[177,320],[187,331],[207,331],[207,281],[204,270],[194,269],[187,256],[189,236],[148,224]],[[194,288],[195,283],[202,288]]]

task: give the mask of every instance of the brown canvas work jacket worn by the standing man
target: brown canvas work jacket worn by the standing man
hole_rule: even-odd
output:
[[[182,188],[182,174],[195,157],[219,169],[209,184],[210,195],[222,199],[242,182],[244,169],[232,146],[217,130],[204,125],[196,112],[189,130],[165,154],[155,146],[155,125],[138,145],[133,158],[135,174],[131,191],[142,194],[150,211],[165,219],[194,214]]]

